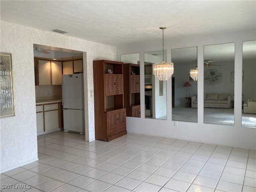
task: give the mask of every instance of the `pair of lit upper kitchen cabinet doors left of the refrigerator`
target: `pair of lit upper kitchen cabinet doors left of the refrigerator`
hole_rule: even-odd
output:
[[[61,82],[62,82],[62,63],[61,62],[38,60],[38,84],[39,85],[61,85]]]

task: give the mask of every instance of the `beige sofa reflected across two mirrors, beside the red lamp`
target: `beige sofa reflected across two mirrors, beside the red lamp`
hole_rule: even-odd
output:
[[[191,98],[191,107],[197,108],[197,95]],[[231,96],[229,94],[204,94],[204,107],[231,108]]]

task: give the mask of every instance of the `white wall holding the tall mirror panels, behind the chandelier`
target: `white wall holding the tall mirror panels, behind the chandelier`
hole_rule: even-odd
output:
[[[226,34],[208,36],[186,36],[165,40],[167,50],[167,62],[171,61],[171,50],[198,46],[198,123],[178,122],[174,126],[171,107],[171,79],[167,81],[167,120],[127,117],[128,132],[178,138],[197,142],[234,146],[239,148],[256,149],[256,128],[242,127],[242,42],[255,40],[256,31],[241,31]],[[234,126],[204,124],[203,118],[203,93],[204,93],[204,45],[235,42],[235,83],[234,92]],[[144,52],[160,50],[161,42],[150,41],[144,44],[134,44],[117,48],[117,58],[120,54],[140,53],[140,62],[144,61]],[[175,66],[175,64],[174,64]],[[175,69],[174,69],[175,70]],[[144,74],[144,67],[140,68],[140,74]],[[144,78],[141,79],[141,90],[144,89]],[[140,102],[144,103],[144,94],[140,94]],[[141,105],[144,111],[144,105]]]

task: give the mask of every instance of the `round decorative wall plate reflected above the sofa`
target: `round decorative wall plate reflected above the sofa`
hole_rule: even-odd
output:
[[[217,69],[208,69],[204,71],[204,83],[207,85],[216,85],[222,81],[222,72]]]

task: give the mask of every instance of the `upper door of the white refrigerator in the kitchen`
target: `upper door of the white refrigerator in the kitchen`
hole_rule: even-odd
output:
[[[83,74],[62,76],[62,103],[66,109],[84,109]]]

